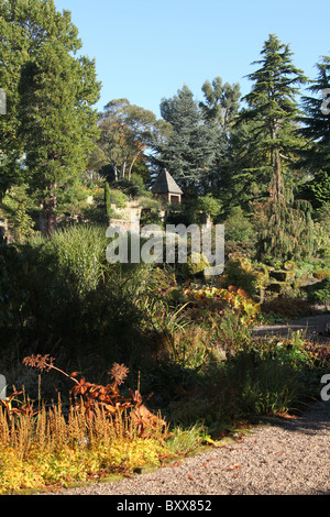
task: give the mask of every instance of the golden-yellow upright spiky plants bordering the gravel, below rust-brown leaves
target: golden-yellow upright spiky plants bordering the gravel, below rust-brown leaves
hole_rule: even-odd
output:
[[[130,473],[160,465],[168,454],[161,427],[153,437],[139,438],[128,415],[114,425],[98,408],[87,425],[84,410],[64,409],[61,403],[43,406],[37,416],[9,421],[0,408],[0,494]]]

